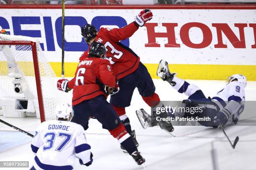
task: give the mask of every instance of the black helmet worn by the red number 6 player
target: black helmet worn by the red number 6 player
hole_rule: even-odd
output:
[[[101,42],[92,42],[90,46],[90,51],[89,51],[89,57],[100,57],[103,54],[103,57],[106,55],[106,48]]]

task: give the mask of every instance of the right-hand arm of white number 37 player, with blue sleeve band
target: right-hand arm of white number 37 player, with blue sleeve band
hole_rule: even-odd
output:
[[[77,157],[79,158],[79,163],[81,165],[89,166],[92,164],[92,153],[91,153],[91,146],[87,143],[84,129],[82,126],[79,125],[79,128],[77,128],[79,131],[76,136],[76,143],[75,143],[75,153]]]

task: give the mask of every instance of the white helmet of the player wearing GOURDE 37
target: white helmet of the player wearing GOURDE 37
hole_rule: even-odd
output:
[[[72,106],[67,103],[60,104],[56,106],[55,115],[57,120],[61,118],[70,121],[74,116],[74,110],[72,109]]]

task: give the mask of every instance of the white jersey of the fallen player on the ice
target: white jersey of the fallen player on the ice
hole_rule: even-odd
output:
[[[215,97],[212,97],[212,101],[219,106],[220,110],[225,107],[231,113],[226,125],[236,124],[243,112],[245,87],[246,85],[241,82],[233,81],[228,83],[223,90],[220,90]]]

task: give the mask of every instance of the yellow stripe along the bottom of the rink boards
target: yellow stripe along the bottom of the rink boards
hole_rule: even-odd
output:
[[[24,63],[25,64],[25,63]],[[33,69],[33,63],[27,62],[23,68],[29,74],[28,70]],[[50,62],[55,74],[61,76],[61,62]],[[65,77],[74,77],[78,62],[65,62]],[[152,78],[156,76],[158,64],[144,64]],[[6,67],[6,68],[4,68]],[[32,67],[32,68],[31,68]],[[0,75],[8,73],[7,63],[0,62]],[[256,81],[256,65],[199,65],[199,64],[169,64],[171,72],[178,73],[183,79],[200,79],[200,80],[225,80],[233,74],[243,74],[247,80]],[[31,73],[30,73],[31,74]]]

